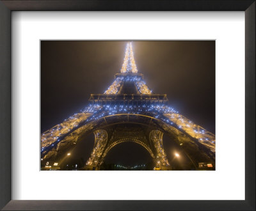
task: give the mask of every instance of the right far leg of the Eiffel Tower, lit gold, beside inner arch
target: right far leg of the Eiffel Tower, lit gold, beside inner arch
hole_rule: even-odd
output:
[[[150,134],[150,141],[154,146],[155,151],[155,168],[158,170],[167,170],[171,169],[168,159],[166,157],[166,153],[164,153],[163,148],[163,132],[160,130],[151,130]]]

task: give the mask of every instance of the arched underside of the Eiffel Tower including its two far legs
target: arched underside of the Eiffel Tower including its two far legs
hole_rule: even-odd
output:
[[[95,136],[90,158],[84,163],[83,169],[100,169],[104,158],[111,148],[125,141],[132,141],[143,146],[154,162],[155,169],[172,169],[172,162],[166,157],[163,146],[163,134],[167,134],[171,141],[175,141],[182,151],[191,159],[191,169],[200,168],[201,163],[212,164],[214,169],[215,153],[211,148],[200,143],[196,137],[190,136],[177,125],[170,125],[145,114],[113,114],[102,116],[90,123],[81,124],[70,130],[61,141],[52,143],[49,150],[42,153],[42,168],[58,164],[76,147],[78,141],[92,133]],[[48,164],[47,164],[48,163]]]

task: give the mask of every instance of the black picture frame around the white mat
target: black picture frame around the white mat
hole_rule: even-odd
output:
[[[245,200],[19,201],[11,198],[12,11],[244,11]],[[255,0],[0,1],[0,208],[3,210],[255,210]],[[209,190],[211,191],[211,190]],[[221,191],[221,190],[220,190]]]

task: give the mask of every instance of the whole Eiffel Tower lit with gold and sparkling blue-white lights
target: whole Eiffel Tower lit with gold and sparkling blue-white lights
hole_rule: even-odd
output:
[[[131,42],[111,86],[104,94],[91,94],[89,101],[83,111],[42,134],[42,169],[58,169],[77,141],[91,132],[95,144],[83,169],[100,169],[109,150],[125,141],[143,146],[154,169],[172,169],[163,148],[164,133],[180,145],[194,169],[205,164],[215,168],[215,135],[169,107],[165,94],[152,93],[138,73]]]

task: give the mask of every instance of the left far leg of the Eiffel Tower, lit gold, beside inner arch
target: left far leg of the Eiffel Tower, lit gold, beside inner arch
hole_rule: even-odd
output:
[[[108,132],[106,130],[95,130],[94,146],[90,158],[87,160],[84,169],[99,169],[102,164],[102,154],[108,142]]]

